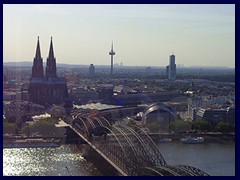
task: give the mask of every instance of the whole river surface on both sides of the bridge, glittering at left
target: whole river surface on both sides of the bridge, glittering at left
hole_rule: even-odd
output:
[[[86,146],[86,145],[85,145]],[[190,165],[211,176],[235,175],[235,143],[157,144],[168,165]],[[3,149],[5,176],[103,176],[83,157],[83,145]]]

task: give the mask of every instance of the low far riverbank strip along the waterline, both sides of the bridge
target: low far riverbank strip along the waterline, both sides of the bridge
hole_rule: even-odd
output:
[[[225,141],[235,142],[235,133],[216,133],[216,132],[198,132],[198,133],[151,133],[149,136],[154,142],[169,138],[173,141],[179,141],[180,138],[191,135],[192,137],[203,137],[204,142],[221,143]],[[69,141],[69,137],[21,137],[21,136],[3,136],[3,148],[37,148],[37,147],[59,147],[62,144],[76,144],[78,141]]]

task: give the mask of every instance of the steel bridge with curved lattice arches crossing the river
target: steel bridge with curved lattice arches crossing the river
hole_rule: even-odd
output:
[[[139,126],[110,122],[91,116],[87,110],[73,110],[70,127],[113,165],[130,176],[208,176],[186,165],[169,166],[153,140]]]

